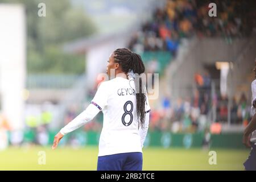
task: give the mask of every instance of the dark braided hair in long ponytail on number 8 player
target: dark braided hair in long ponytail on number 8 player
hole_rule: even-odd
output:
[[[121,66],[122,71],[125,73],[132,70],[134,73],[138,73],[136,75],[141,75],[145,71],[141,56],[127,48],[116,49],[114,51],[114,61]],[[135,80],[136,78],[137,77],[135,77]],[[139,82],[135,81],[136,106],[139,126],[144,128],[146,96],[142,92],[142,88],[142,78],[139,77]]]

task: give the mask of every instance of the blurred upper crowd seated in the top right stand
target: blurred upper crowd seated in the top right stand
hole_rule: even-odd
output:
[[[216,17],[208,15],[211,2],[216,3]],[[255,7],[247,1],[167,0],[164,9],[156,9],[151,20],[133,35],[129,48],[135,52],[170,51],[175,56],[182,38],[222,36],[230,42],[234,37],[249,36],[256,32],[255,18]]]

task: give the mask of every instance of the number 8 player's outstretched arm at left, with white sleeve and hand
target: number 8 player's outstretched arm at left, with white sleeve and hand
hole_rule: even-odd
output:
[[[84,111],[82,111],[82,113],[79,114],[75,119],[69,122],[68,125],[63,127],[63,129],[61,129],[59,133],[55,135],[52,149],[54,150],[57,147],[61,138],[63,138],[65,134],[68,134],[78,129],[82,125],[85,125],[85,123],[91,121],[102,110],[102,108],[106,106],[107,100],[107,88],[105,86],[105,83],[102,82],[92,102],[90,102],[90,105]]]

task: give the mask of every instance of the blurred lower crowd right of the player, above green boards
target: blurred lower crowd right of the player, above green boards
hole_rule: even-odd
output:
[[[195,133],[210,130],[216,133],[214,127],[228,124],[230,105],[230,125],[244,125],[250,121],[250,101],[245,93],[240,98],[212,94],[211,78],[208,73],[195,75],[196,88],[192,96],[177,98],[172,101],[166,94],[162,98],[160,107],[151,109],[150,130],[171,131],[172,133]],[[214,117],[215,115],[215,117]],[[214,122],[212,122],[214,121]],[[216,124],[217,123],[217,124]],[[217,131],[220,133],[221,129]]]

